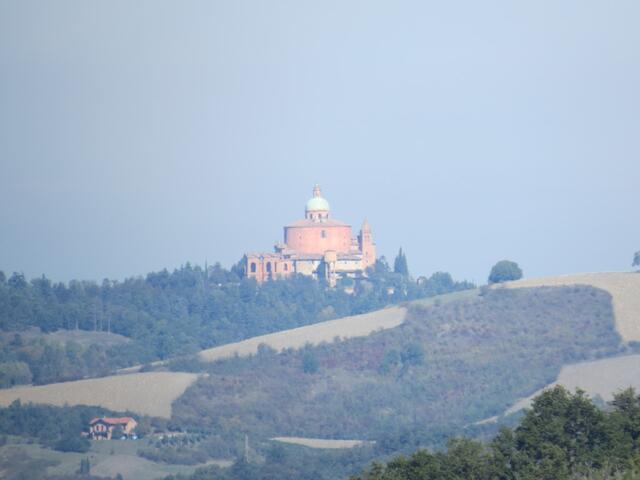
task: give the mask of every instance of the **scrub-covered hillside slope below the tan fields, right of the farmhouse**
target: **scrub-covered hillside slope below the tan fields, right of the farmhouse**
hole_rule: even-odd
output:
[[[315,374],[302,371],[301,352],[218,362],[176,402],[174,419],[269,437],[451,433],[504,411],[566,363],[620,351],[611,297],[601,290],[476,295],[416,305],[397,328],[311,348],[320,363]],[[389,355],[416,342],[422,365],[383,371]]]

